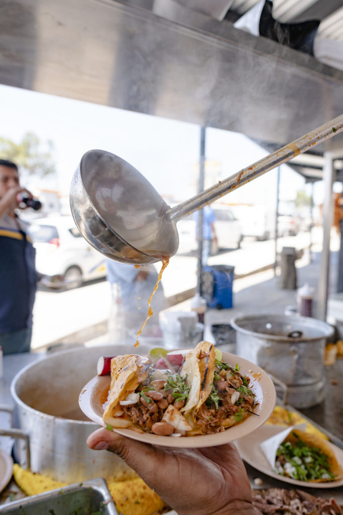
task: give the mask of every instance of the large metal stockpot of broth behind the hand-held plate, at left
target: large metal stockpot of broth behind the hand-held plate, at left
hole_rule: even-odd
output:
[[[97,373],[98,357],[125,353],[149,354],[149,348],[80,347],[53,353],[16,374],[11,384],[15,426],[29,436],[33,472],[66,483],[135,476],[118,456],[88,449],[86,439],[99,426],[86,419],[78,403],[83,386]],[[22,440],[15,441],[14,456],[25,462]]]

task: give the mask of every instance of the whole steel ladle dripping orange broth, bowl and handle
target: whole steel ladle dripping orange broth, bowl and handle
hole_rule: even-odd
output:
[[[342,130],[340,115],[174,208],[127,161],[111,152],[89,150],[71,182],[71,213],[88,243],[108,258],[155,263],[177,251],[178,220]]]

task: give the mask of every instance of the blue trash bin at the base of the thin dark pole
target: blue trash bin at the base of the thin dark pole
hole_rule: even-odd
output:
[[[232,307],[234,266],[204,266],[201,274],[201,295],[208,307],[227,309]]]

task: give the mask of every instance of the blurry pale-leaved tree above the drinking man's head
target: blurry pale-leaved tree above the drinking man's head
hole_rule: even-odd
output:
[[[20,167],[21,175],[47,177],[56,173],[52,158],[53,143],[42,143],[37,134],[26,132],[20,143],[0,136],[0,158],[9,159]]]

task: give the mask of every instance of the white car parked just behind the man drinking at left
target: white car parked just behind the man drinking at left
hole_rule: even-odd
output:
[[[104,256],[86,242],[71,216],[34,219],[29,234],[36,249],[36,269],[50,288],[76,288],[106,276]]]

